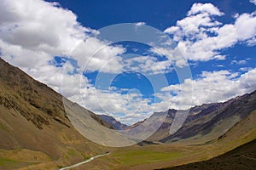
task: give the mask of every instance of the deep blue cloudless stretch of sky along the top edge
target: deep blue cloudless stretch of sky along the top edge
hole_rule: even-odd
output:
[[[83,1],[76,2],[70,0],[49,1],[59,2],[63,8],[68,8],[78,15],[78,20],[84,26],[93,29],[100,29],[104,26],[125,22],[146,22],[148,26],[154,26],[161,31],[167,27],[175,25],[177,20],[183,19],[194,3],[212,3],[225,13],[221,19],[232,22],[233,14],[248,13],[255,10],[253,3],[244,0],[236,1],[194,1],[180,0],[160,2],[141,0],[137,2],[129,1]]]

